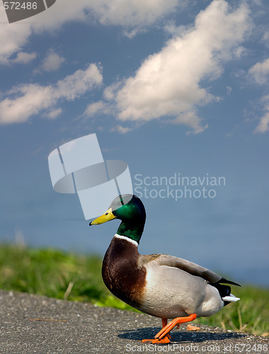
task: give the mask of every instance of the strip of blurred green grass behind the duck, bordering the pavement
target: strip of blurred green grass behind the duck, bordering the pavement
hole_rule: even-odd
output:
[[[110,294],[101,278],[101,258],[64,253],[55,249],[0,246],[0,288],[31,294],[91,302],[98,306],[134,310]],[[268,335],[269,290],[234,287],[240,302],[218,314],[195,320],[197,324]]]

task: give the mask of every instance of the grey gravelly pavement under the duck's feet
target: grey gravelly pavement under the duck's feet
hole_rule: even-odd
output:
[[[0,290],[0,353],[268,353],[268,338],[186,324],[169,345],[144,344],[161,319],[110,307]]]

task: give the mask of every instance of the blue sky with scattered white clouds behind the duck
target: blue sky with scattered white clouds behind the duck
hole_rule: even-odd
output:
[[[57,0],[9,24],[1,6],[0,239],[105,253],[118,221],[90,229],[47,166],[95,132],[146,207],[141,253],[269,286],[268,12],[260,0]],[[167,188],[184,186],[153,182],[175,173],[225,184],[176,200]]]

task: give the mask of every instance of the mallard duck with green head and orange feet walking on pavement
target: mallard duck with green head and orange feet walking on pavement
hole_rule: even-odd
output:
[[[112,219],[122,222],[105,253],[102,276],[116,297],[141,312],[161,317],[162,329],[147,343],[170,343],[169,332],[199,316],[212,316],[239,300],[231,295],[238,285],[183,258],[166,254],[143,256],[137,246],[144,230],[146,212],[135,195],[119,195],[104,215],[91,225]],[[168,319],[173,319],[167,324]]]

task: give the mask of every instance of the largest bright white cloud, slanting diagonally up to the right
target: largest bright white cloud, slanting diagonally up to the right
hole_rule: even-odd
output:
[[[251,28],[248,8],[234,11],[224,0],[214,0],[195,19],[193,27],[168,40],[163,49],[144,60],[135,76],[105,91],[113,98],[118,119],[147,122],[166,117],[202,132],[207,125],[196,114],[199,105],[218,100],[202,87],[203,79],[217,79],[224,62],[243,52],[241,42]],[[173,118],[173,120],[171,120]]]

